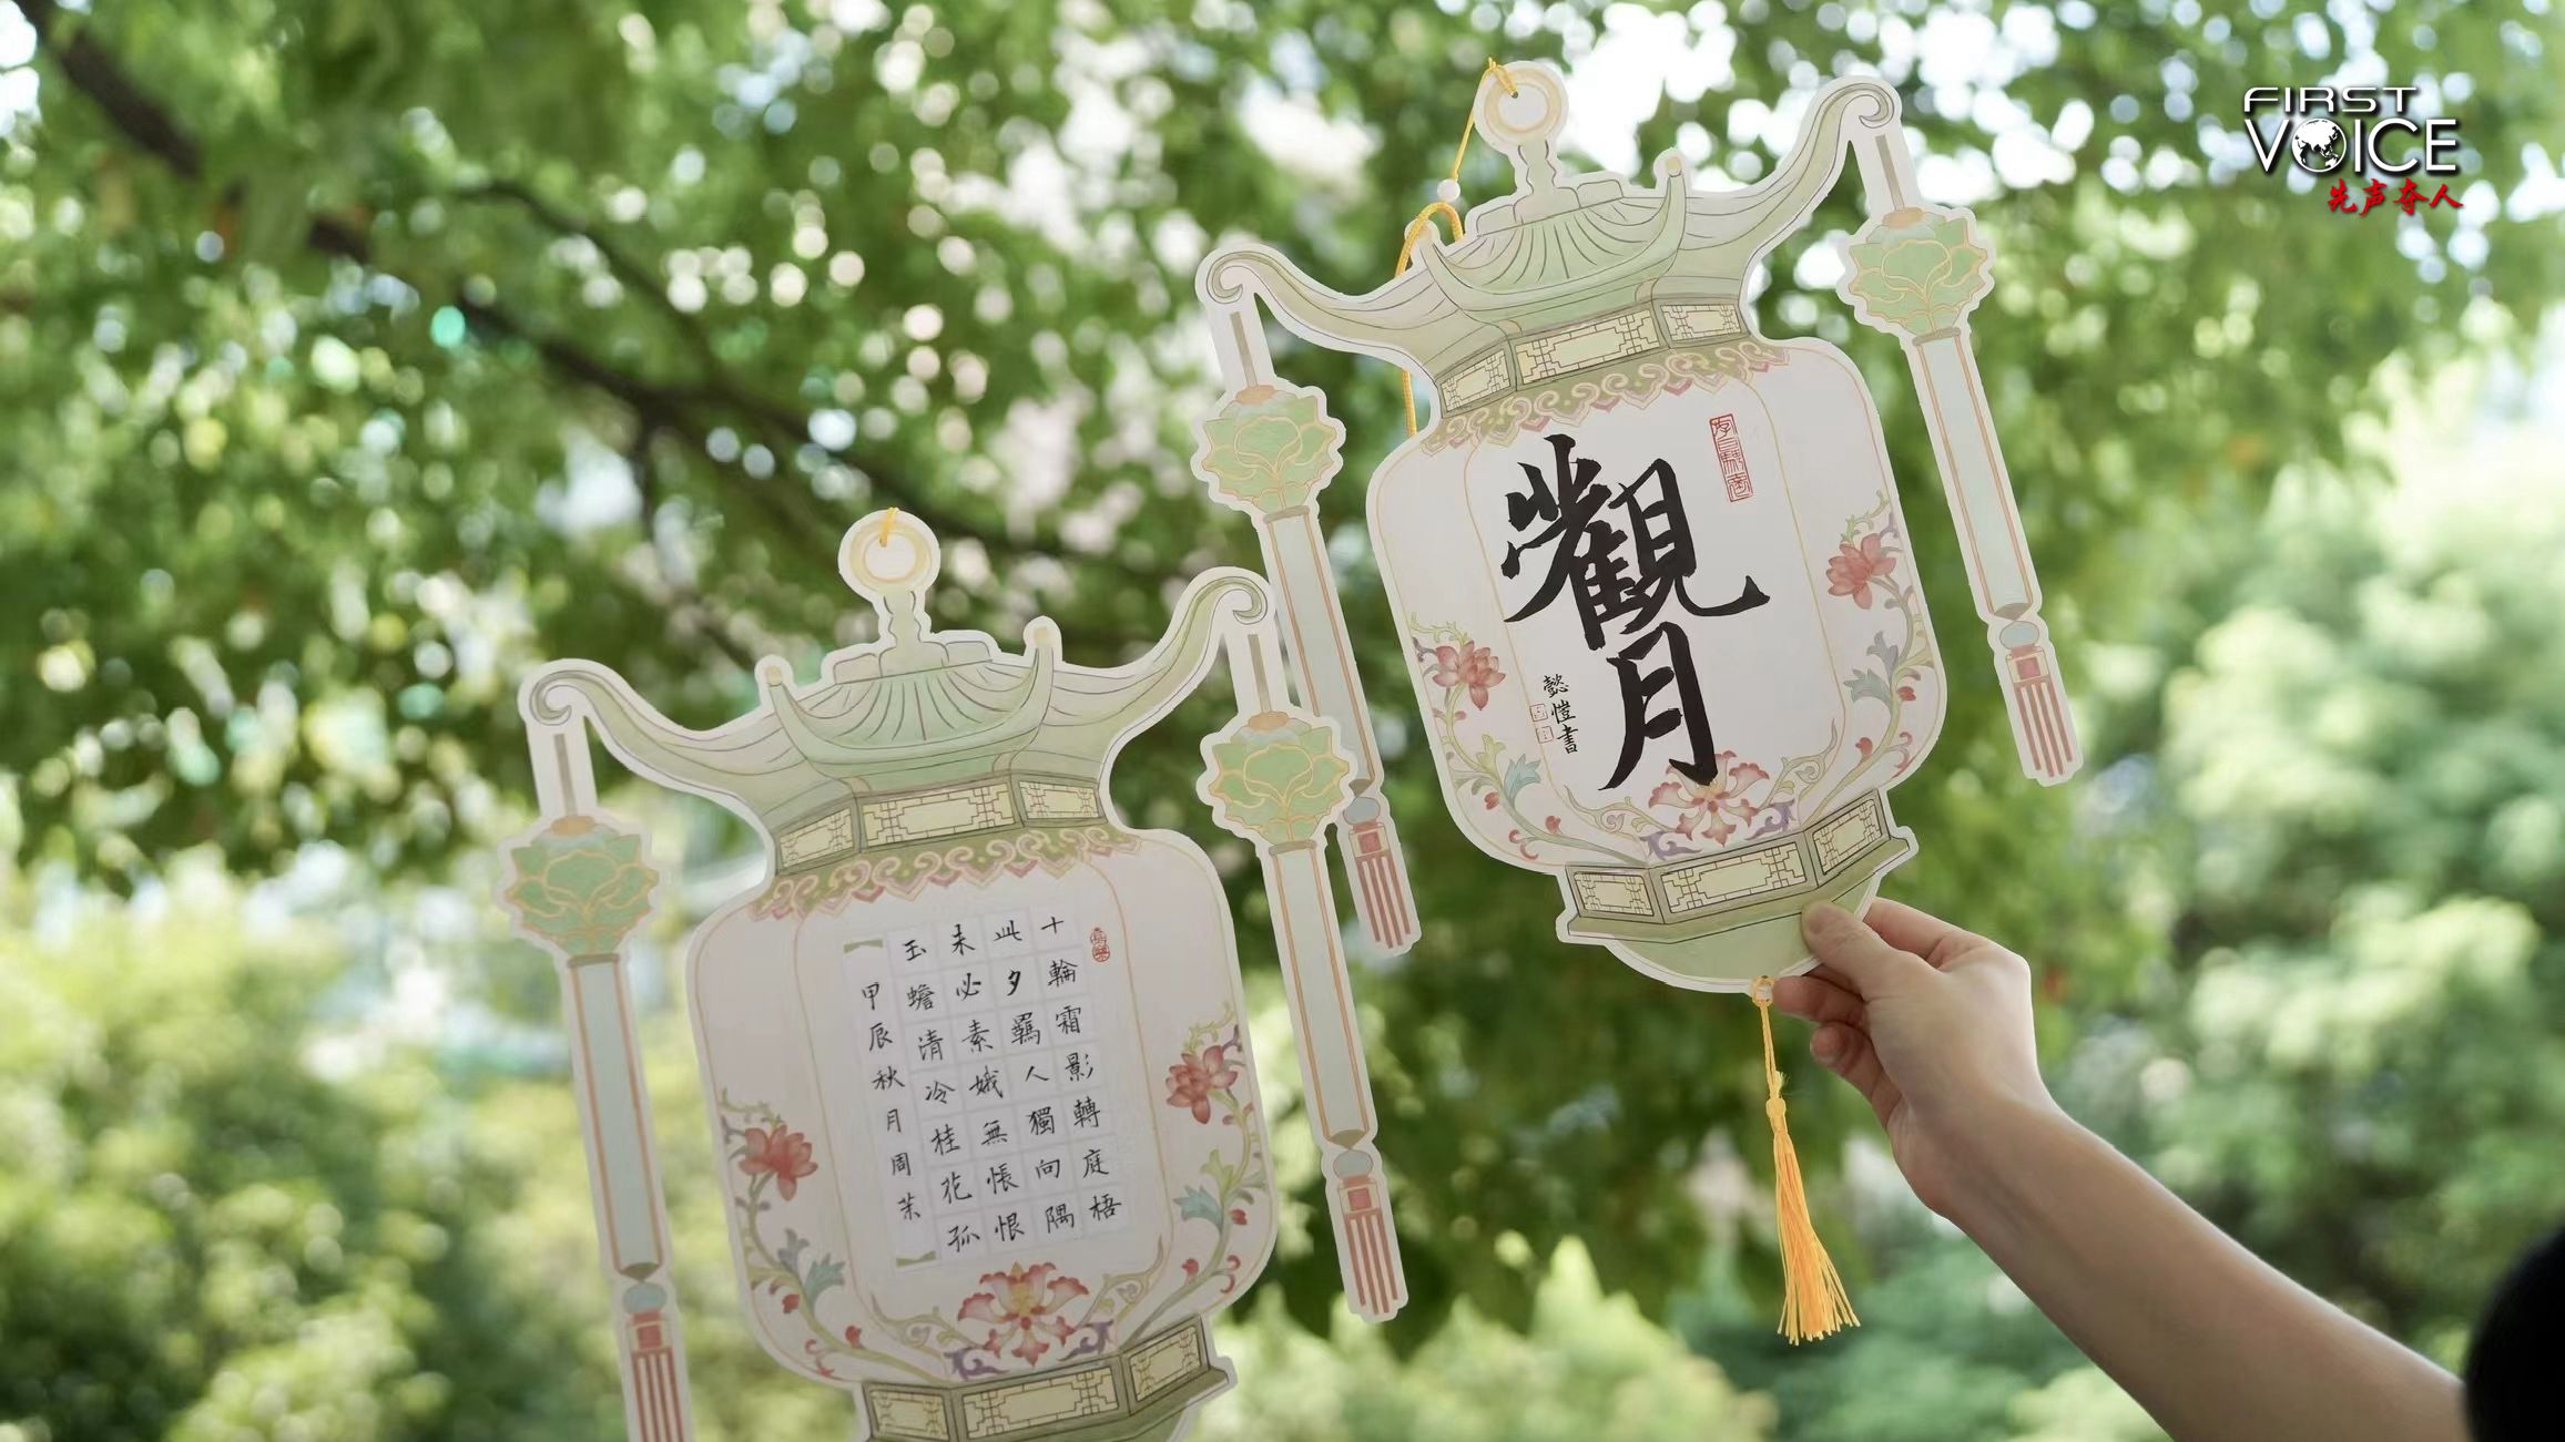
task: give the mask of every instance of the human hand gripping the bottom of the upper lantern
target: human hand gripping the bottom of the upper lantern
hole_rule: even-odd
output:
[[[1952,1216],[2006,1126],[2057,1114],[2029,962],[1885,898],[1862,919],[1811,906],[1801,931],[1819,967],[1772,983],[1772,1006],[1819,1024],[1808,1055],[1870,1098],[1916,1198]]]

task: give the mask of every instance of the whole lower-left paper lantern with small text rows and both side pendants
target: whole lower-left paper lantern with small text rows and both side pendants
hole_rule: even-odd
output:
[[[716,731],[595,665],[526,683],[546,821],[508,903],[562,957],[634,1437],[690,1434],[621,975],[654,875],[595,803],[585,729],[770,849],[682,972],[767,1352],[854,1391],[857,1437],[1172,1437],[1229,1378],[1208,1316],[1265,1265],[1272,1147],[1221,878],[1126,826],[1108,775],[1224,649],[1239,718],[1200,795],[1265,865],[1349,1298],[1403,1301],[1324,862],[1354,767],[1288,703],[1265,582],[1208,572],[1157,649],[1090,670],[1049,621],[1023,654],[931,629],[936,570],[916,518],[859,521],[841,572],[880,639],[811,685],[762,662],[764,700]]]

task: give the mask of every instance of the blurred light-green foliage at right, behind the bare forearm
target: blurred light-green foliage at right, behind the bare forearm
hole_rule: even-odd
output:
[[[2447,413],[2432,408],[2429,413]],[[2493,418],[2498,411],[2480,411]],[[2493,1280],[2565,1221],[2565,693],[2537,439],[2388,449],[2393,488],[2296,475],[2167,554],[2162,739],[2103,783],[2165,952],[2070,1011],[2060,1098],[2280,1270],[2457,1362]],[[2167,552],[2173,544],[2167,541]],[[1678,1314],[1803,1442],[2152,1437],[1965,1239],[1867,1229],[1844,1344],[1785,1355],[1721,1288]]]

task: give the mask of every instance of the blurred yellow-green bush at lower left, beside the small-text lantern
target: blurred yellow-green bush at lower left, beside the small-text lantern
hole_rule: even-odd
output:
[[[308,1065],[344,957],[182,880],[0,872],[0,1421],[36,1442],[580,1437],[585,1332],[498,1265],[516,1173],[418,1055]],[[41,929],[31,931],[31,924]]]

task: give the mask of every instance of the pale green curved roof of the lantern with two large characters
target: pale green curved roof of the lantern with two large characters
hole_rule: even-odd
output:
[[[1536,64],[1511,77],[1516,92],[1485,87],[1477,123],[1513,159],[1516,190],[1477,205],[1465,239],[1418,244],[1413,269],[1365,295],[1329,290],[1267,246],[1236,246],[1206,262],[1206,298],[1231,303],[1252,282],[1282,323],[1431,375],[1444,413],[1634,346],[1744,341],[1744,280],[1834,182],[1844,118],[1896,113],[1885,85],[1837,85],[1770,177],[1698,190],[1667,151],[1662,185],[1647,190],[1567,174],[1554,146],[1565,85]]]

